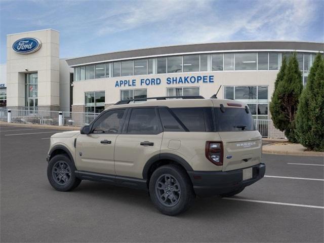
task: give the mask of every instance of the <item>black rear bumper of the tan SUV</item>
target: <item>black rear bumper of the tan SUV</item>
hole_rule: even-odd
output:
[[[260,180],[265,173],[265,164],[261,163],[252,167],[253,176],[243,180],[243,169],[233,171],[187,171],[196,195],[214,196],[229,193],[242,187],[249,186]]]

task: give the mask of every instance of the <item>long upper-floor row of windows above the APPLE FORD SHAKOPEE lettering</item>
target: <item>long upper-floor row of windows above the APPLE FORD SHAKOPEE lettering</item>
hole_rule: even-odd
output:
[[[301,71],[309,71],[314,55],[312,53],[296,54]],[[291,56],[292,52],[240,52],[192,54],[98,63],[74,67],[74,81],[160,73],[278,70],[282,58],[290,58]],[[109,73],[111,71],[112,75]],[[304,76],[307,76],[307,73],[304,74]]]

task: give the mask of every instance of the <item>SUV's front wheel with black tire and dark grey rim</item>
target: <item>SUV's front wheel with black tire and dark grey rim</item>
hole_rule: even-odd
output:
[[[47,178],[51,186],[58,191],[70,191],[76,188],[81,180],[75,176],[75,166],[65,154],[51,158],[47,167]]]

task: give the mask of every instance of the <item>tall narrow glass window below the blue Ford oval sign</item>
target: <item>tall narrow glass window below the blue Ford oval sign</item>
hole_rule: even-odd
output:
[[[25,74],[25,106],[30,110],[36,110],[38,106],[38,74]]]

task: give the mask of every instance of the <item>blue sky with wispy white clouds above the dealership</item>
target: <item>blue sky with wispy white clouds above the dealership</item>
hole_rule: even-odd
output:
[[[324,42],[324,0],[0,0],[6,35],[56,29],[60,57],[226,41]]]

